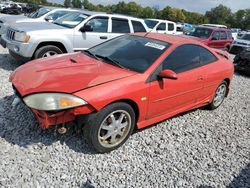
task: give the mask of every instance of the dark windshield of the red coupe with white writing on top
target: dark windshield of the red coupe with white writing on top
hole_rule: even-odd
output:
[[[119,67],[143,73],[169,46],[169,43],[160,40],[123,35],[88,51],[106,63],[116,62]]]

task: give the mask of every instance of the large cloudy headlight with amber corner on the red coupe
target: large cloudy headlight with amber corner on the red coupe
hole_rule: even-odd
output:
[[[44,111],[63,110],[88,104],[81,98],[64,93],[37,93],[24,97],[30,108]]]

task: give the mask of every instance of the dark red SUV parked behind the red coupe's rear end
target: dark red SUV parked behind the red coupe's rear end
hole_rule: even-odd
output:
[[[212,48],[229,50],[233,42],[232,33],[229,29],[218,27],[198,26],[189,35]]]

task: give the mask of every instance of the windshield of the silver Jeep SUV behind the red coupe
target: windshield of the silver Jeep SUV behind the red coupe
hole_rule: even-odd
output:
[[[78,24],[80,24],[83,20],[85,20],[88,15],[85,15],[81,12],[69,13],[61,18],[57,19],[54,24],[61,25],[67,28],[74,28]]]

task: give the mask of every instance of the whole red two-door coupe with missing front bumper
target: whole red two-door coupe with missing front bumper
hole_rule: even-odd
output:
[[[23,101],[43,128],[78,122],[98,152],[109,152],[135,128],[219,107],[234,72],[224,53],[173,35],[123,35],[22,65],[10,76],[13,105]]]

